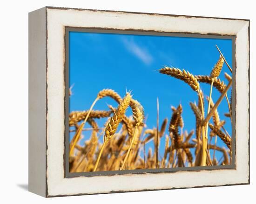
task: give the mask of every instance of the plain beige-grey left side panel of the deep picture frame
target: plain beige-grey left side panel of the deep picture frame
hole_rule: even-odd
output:
[[[46,8],[28,21],[28,191],[46,197]]]

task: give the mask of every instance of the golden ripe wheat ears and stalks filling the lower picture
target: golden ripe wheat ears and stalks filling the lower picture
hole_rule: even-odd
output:
[[[164,66],[156,74],[169,76],[169,80],[181,80],[187,83],[188,91],[195,93],[196,102],[188,102],[194,113],[194,130],[186,130],[182,117],[182,105],[172,107],[172,115],[166,115],[159,121],[159,102],[157,99],[156,127],[148,128],[143,104],[136,96],[127,91],[123,97],[112,89],[103,89],[95,93],[91,107],[87,110],[69,113],[70,133],[74,136],[69,144],[69,171],[95,172],[155,168],[176,168],[191,166],[224,166],[232,162],[232,134],[225,124],[232,125],[232,97],[228,90],[232,86],[232,68],[220,53],[219,59],[208,76],[193,75],[192,71]],[[222,70],[223,64],[229,70]],[[228,84],[219,78],[225,72]],[[209,93],[203,93],[200,84],[210,87]],[[220,92],[216,102],[212,100],[212,89]],[[72,88],[69,89],[72,98]],[[110,97],[117,106],[108,105],[104,110],[94,110],[99,100]],[[219,115],[218,106],[226,103],[225,115]],[[171,101],[170,101],[171,105]],[[187,105],[187,104],[185,104]],[[127,110],[132,115],[127,115]],[[98,121],[104,120],[104,127]],[[85,128],[85,125],[90,128]],[[167,134],[166,134],[167,133]],[[81,143],[82,137],[85,142]],[[217,146],[222,140],[224,147]],[[164,150],[160,151],[160,144]],[[150,145],[148,151],[146,146]],[[154,147],[154,148],[151,148]],[[217,154],[218,152],[218,154]],[[218,156],[217,156],[218,155]]]

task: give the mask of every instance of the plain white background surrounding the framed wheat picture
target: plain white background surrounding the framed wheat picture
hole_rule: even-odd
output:
[[[28,179],[28,12],[61,6],[131,12],[250,19],[250,185],[168,191],[42,198],[27,191]],[[0,5],[0,203],[252,203],[255,200],[255,45],[253,1],[240,0],[44,0],[2,1]],[[205,178],[207,179],[207,178]],[[254,201],[255,202],[255,201]]]

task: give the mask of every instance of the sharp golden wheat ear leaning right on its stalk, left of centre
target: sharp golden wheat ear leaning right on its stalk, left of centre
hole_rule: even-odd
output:
[[[97,170],[97,167],[99,165],[99,161],[101,159],[101,154],[103,152],[104,147],[106,146],[106,144],[108,143],[108,141],[113,137],[113,135],[115,134],[118,125],[121,123],[126,109],[129,106],[129,103],[131,101],[131,95],[128,92],[126,94],[126,96],[123,98],[123,100],[121,101],[121,103],[119,104],[118,108],[115,110],[114,115],[110,118],[110,121],[108,122],[106,129],[105,129],[105,135],[104,135],[104,141],[103,144],[101,146],[101,150],[98,154],[95,166],[94,166],[94,172]]]

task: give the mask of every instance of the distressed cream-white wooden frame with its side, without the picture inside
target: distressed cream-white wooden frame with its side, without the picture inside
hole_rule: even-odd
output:
[[[65,178],[65,26],[236,36],[236,167]],[[236,184],[249,184],[249,20],[54,7],[29,13],[29,191],[55,197]]]

